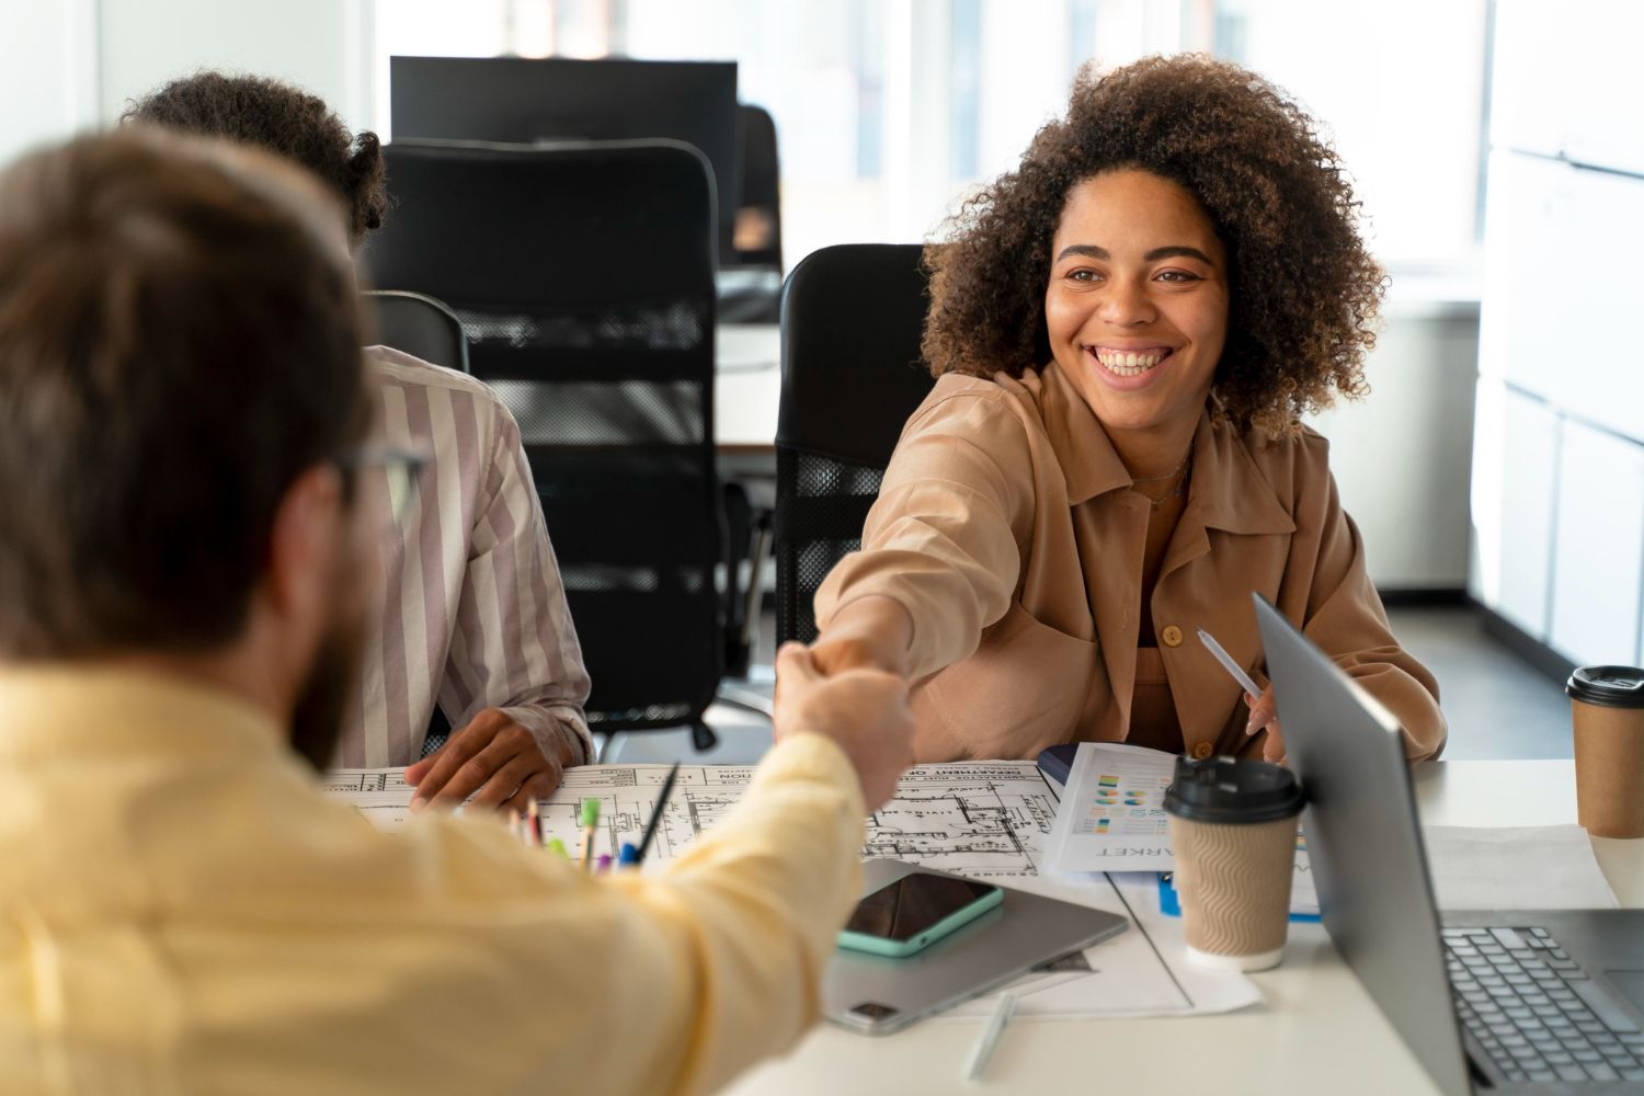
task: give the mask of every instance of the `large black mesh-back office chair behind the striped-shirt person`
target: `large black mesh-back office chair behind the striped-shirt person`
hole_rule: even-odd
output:
[[[690,726],[720,680],[713,182],[677,141],[396,141],[365,260],[462,319],[520,422],[598,733]],[[730,592],[727,593],[730,596]]]

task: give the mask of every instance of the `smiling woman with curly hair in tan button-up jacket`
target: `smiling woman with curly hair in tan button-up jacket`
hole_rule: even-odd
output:
[[[815,657],[916,679],[921,761],[1077,739],[1284,758],[1261,592],[1402,721],[1445,739],[1388,629],[1325,440],[1363,391],[1383,273],[1314,123],[1207,58],[1085,74],[972,199],[934,271],[914,412],[817,595]]]

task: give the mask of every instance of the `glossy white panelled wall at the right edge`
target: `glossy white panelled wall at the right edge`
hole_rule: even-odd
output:
[[[1572,662],[1644,657],[1636,0],[1499,0],[1476,596]]]

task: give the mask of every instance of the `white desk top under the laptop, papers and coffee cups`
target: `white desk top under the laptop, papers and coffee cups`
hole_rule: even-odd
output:
[[[1437,825],[1575,822],[1568,761],[1440,761],[1417,769],[1422,820]],[[1623,905],[1644,905],[1644,840],[1593,838]],[[1266,1004],[1152,1020],[1016,1020],[983,1081],[960,1065],[980,1024],[924,1022],[870,1040],[832,1027],[730,1091],[753,1093],[1434,1093],[1427,1073],[1342,963],[1322,925],[1291,925],[1284,965],[1253,974]]]

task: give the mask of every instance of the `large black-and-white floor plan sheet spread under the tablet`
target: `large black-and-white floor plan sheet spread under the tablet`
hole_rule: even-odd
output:
[[[567,769],[566,782],[541,800],[544,831],[577,850],[577,812],[584,797],[597,797],[595,856],[623,841],[638,841],[656,812],[667,771],[669,766]],[[646,869],[656,871],[684,854],[737,805],[751,779],[751,767],[681,766]],[[413,789],[399,769],[332,771],[326,774],[326,790],[386,830],[409,817]],[[898,782],[896,795],[868,815],[861,851],[998,879],[1003,886],[1129,919],[1131,927],[1118,937],[1024,976],[1018,1006],[1023,1015],[1194,1015],[1261,1001],[1254,983],[1243,974],[1205,973],[1185,963],[1180,925],[1159,914],[1156,876],[1143,884],[1115,882],[1103,874],[1041,874],[1055,817],[1055,795],[1031,761],[917,766]],[[991,1007],[993,1001],[983,999],[944,1015],[986,1015]]]

